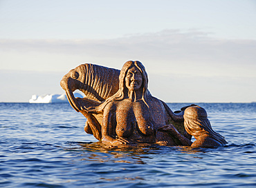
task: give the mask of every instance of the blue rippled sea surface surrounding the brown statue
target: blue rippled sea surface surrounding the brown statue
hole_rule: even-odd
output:
[[[0,103],[0,187],[256,187],[256,103],[198,105],[228,145],[107,148],[68,103]]]

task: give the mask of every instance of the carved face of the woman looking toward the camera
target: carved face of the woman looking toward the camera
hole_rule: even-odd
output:
[[[143,84],[143,75],[136,66],[130,67],[125,76],[125,86],[128,90],[136,91]]]

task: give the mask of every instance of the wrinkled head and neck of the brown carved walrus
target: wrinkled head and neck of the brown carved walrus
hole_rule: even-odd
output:
[[[70,70],[63,76],[60,85],[71,106],[79,112],[82,109],[81,101],[73,95],[75,90],[83,92],[85,98],[89,99],[88,103],[97,105],[118,91],[119,74],[120,70],[86,63]]]

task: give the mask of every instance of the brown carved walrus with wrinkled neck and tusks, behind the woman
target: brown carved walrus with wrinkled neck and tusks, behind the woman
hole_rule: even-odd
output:
[[[101,139],[101,114],[88,114],[83,107],[99,105],[118,91],[120,70],[93,64],[82,64],[63,76],[60,85],[66,92],[71,106],[86,117],[84,131]],[[75,98],[73,92],[80,90],[84,98]]]

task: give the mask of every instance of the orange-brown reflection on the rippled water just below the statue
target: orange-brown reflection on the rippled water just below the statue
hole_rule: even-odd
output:
[[[122,147],[109,147],[100,142],[72,144],[72,148],[65,148],[65,150],[79,152],[80,160],[85,160],[87,163],[130,163],[142,165],[147,164],[145,159],[154,159],[157,157],[156,155],[159,154],[196,154],[197,156],[193,157],[202,158],[198,155],[207,154],[218,148],[209,149],[188,146],[168,147],[147,144],[137,145],[136,147],[126,145]],[[228,145],[223,147],[228,147]],[[239,147],[241,147],[241,145]]]

